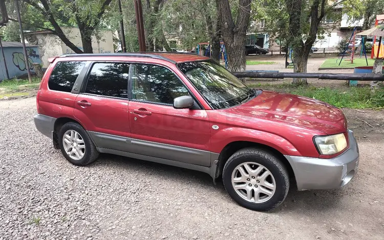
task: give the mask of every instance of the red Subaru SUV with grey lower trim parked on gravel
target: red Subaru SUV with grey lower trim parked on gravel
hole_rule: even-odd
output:
[[[343,112],[296,95],[255,90],[209,58],[186,53],[50,59],[36,128],[69,162],[117,154],[222,176],[234,201],[279,206],[298,190],[347,184],[358,147]]]

